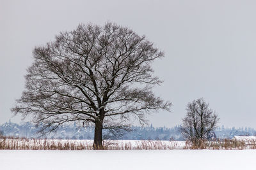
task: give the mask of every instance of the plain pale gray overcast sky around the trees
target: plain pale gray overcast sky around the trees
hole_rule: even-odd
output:
[[[256,1],[247,0],[0,0],[0,124],[12,117],[36,45],[79,23],[111,21],[145,34],[165,52],[154,63],[164,80],[156,94],[173,107],[150,116],[154,126],[180,124],[186,104],[204,97],[219,125],[256,129],[255,9]]]

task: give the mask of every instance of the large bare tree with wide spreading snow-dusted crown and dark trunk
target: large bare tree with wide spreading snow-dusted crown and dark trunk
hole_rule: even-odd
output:
[[[172,103],[152,92],[162,81],[151,64],[163,56],[127,27],[81,24],[33,50],[26,89],[12,111],[44,125],[41,132],[74,121],[94,125],[93,147],[102,149],[102,129],[129,127],[133,118],[143,124],[147,113],[170,110]]]

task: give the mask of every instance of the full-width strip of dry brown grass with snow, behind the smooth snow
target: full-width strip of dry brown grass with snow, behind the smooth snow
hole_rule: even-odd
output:
[[[0,150],[93,150],[92,140],[66,140],[66,139],[27,139],[6,138],[0,139]],[[180,141],[113,141],[105,140],[105,150],[244,150],[256,149],[256,140],[241,141],[224,139],[218,141],[200,141],[186,144]]]

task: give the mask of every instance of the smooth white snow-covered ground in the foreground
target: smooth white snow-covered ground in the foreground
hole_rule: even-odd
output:
[[[0,169],[256,169],[256,150],[0,150]]]

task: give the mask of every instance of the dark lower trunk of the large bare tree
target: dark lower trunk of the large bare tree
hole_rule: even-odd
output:
[[[95,122],[93,149],[94,150],[104,149],[102,145],[102,121],[100,120]]]

